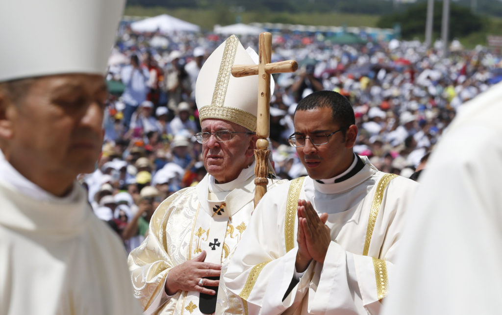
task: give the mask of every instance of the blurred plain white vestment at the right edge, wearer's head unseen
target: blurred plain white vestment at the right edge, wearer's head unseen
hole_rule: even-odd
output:
[[[502,84],[465,103],[433,150],[407,219],[389,314],[499,314]]]

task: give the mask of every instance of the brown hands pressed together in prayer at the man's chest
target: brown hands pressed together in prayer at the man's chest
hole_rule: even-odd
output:
[[[328,214],[320,216],[310,201],[298,200],[298,252],[296,254],[296,271],[303,272],[313,260],[323,263],[331,242],[331,234],[326,221]]]

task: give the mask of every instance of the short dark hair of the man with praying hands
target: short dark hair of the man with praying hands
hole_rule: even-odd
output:
[[[298,110],[330,107],[333,121],[340,125],[343,135],[350,125],[355,124],[354,110],[348,99],[334,91],[317,91],[304,97],[296,106]]]

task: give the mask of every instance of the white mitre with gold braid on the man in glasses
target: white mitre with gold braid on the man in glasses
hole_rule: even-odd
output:
[[[258,78],[255,75],[236,78],[230,72],[233,65],[256,64],[256,52],[245,50],[235,35],[216,48],[200,69],[195,85],[200,121],[219,118],[256,131]]]

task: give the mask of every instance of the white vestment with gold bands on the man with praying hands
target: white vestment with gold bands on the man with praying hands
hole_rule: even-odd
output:
[[[262,198],[225,274],[227,287],[245,298],[249,309],[256,305],[263,314],[378,313],[392,278],[405,205],[418,184],[376,170],[366,157],[361,161],[362,169],[340,183],[306,177],[303,184],[280,185]],[[387,189],[380,181],[384,176]],[[295,274],[298,198],[328,213],[332,241],[324,263],[312,261],[283,301]]]

